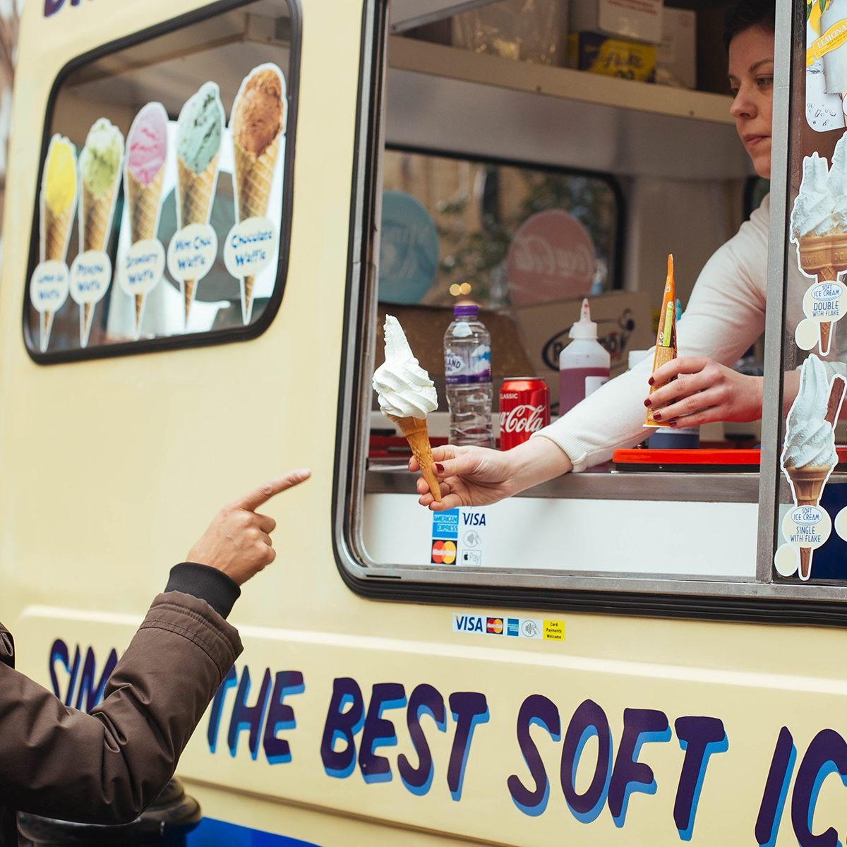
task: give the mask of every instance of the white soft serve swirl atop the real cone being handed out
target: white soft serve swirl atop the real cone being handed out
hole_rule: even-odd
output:
[[[412,356],[397,318],[385,315],[385,362],[374,373],[374,390],[384,415],[426,418],[438,408],[435,383]]]

